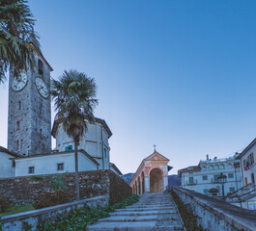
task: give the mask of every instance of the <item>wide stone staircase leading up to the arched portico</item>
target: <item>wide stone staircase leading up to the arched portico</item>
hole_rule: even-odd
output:
[[[89,231],[185,230],[183,220],[170,193],[145,193],[125,209],[88,226]]]

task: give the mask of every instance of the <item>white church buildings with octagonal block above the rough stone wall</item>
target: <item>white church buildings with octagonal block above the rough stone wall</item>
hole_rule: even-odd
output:
[[[122,175],[119,168],[109,162],[108,139],[112,133],[106,122],[96,118],[96,123],[87,123],[87,126],[78,146],[78,170],[111,169]],[[56,138],[56,148],[50,153],[21,156],[0,147],[0,178],[73,172],[73,141],[58,120],[54,121],[52,136]]]

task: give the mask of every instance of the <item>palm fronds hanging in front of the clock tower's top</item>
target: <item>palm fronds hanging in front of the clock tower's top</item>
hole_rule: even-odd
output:
[[[8,67],[18,77],[36,64],[34,46],[40,46],[35,19],[26,0],[0,0],[0,84]]]

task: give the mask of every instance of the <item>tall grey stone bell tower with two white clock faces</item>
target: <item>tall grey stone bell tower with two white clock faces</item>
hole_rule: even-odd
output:
[[[36,42],[34,70],[18,78],[10,74],[8,111],[8,149],[32,156],[51,151],[51,108],[47,95],[51,66]]]

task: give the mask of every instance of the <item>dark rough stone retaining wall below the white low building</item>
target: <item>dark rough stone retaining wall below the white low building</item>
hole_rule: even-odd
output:
[[[0,179],[0,195],[10,197],[14,204],[31,203],[41,192],[53,192],[52,186],[57,174],[24,176]],[[64,177],[67,190],[75,192],[74,173]],[[111,170],[91,170],[79,172],[80,197],[109,196],[110,203],[131,194],[131,188]],[[71,198],[71,200],[74,200]]]

